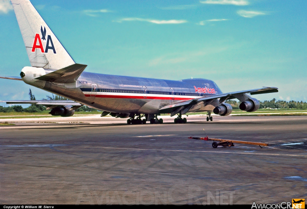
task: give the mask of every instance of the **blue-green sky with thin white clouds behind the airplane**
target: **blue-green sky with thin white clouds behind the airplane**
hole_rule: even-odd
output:
[[[31,1],[87,72],[207,78],[223,92],[262,86],[257,99],[307,101],[306,1]],[[14,11],[0,0],[0,75],[30,66]],[[0,80],[0,100],[50,93]],[[4,105],[4,103],[0,104]]]

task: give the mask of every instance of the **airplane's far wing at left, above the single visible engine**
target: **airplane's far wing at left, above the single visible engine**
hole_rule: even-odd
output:
[[[0,102],[6,102],[6,104],[41,104],[47,107],[55,107],[58,105],[82,106],[82,104],[74,102],[72,100],[10,100]]]

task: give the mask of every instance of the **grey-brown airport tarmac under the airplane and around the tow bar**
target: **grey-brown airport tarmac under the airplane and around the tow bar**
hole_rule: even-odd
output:
[[[0,119],[0,204],[252,204],[307,198],[307,116]],[[190,136],[268,142],[212,148]]]

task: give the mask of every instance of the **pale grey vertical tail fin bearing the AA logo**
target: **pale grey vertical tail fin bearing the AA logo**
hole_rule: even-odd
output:
[[[11,0],[32,67],[62,69],[75,61],[29,0]]]

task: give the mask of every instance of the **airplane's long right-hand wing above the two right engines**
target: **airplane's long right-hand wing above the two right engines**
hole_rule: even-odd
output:
[[[278,92],[278,88],[276,88],[276,87],[262,87],[262,88],[259,88],[259,89],[252,89],[252,90],[246,90],[246,91],[235,91],[235,92],[212,95],[212,96],[207,96],[207,97],[200,97],[200,98],[196,98],[196,99],[190,99],[190,100],[186,100],[186,101],[183,101],[183,102],[166,105],[164,107],[161,107],[159,110],[164,110],[164,109],[174,108],[174,107],[180,107],[180,106],[186,106],[186,105],[191,105],[191,104],[197,104],[198,102],[201,102],[201,101],[206,102],[206,101],[213,100],[213,99],[220,99],[220,102],[219,102],[220,104],[223,103],[227,99],[239,99],[241,101],[241,98],[248,98],[248,96],[247,95],[245,96],[244,94],[255,95],[255,94],[267,94],[267,93],[273,93],[273,92]],[[244,99],[242,99],[242,100],[244,100]]]

